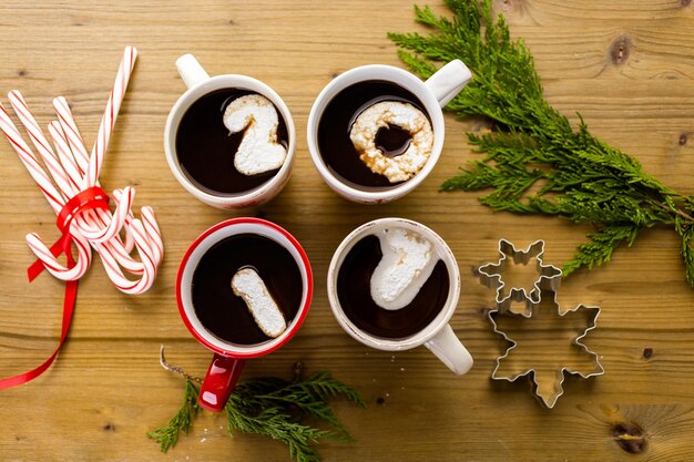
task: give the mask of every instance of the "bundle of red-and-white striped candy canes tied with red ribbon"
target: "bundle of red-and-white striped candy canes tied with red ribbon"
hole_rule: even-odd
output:
[[[135,189],[126,186],[113,191],[115,208],[111,212],[108,206],[110,198],[99,184],[106,146],[136,57],[137,51],[133,47],[125,48],[91,155],[84,147],[64,97],[53,100],[58,119],[48,125],[53,150],[21,93],[13,90],[8,94],[12,109],[47,170],[0,104],[0,130],[58,215],[58,226],[63,232],[63,238],[50,248],[37,234],[27,236],[27,243],[39,258],[39,265],[59,279],[74,281],[89,269],[93,248],[101,256],[109,278],[125,294],[147,290],[154,283],[163,256],[162,237],[152,208],[142,207],[142,218],[135,218],[131,212]],[[76,248],[76,260],[71,255],[71,243]],[[133,249],[136,249],[137,258],[131,256]],[[68,254],[67,265],[57,258],[63,251]],[[33,277],[31,273],[30,268],[30,278]],[[35,276],[37,271],[33,273]]]

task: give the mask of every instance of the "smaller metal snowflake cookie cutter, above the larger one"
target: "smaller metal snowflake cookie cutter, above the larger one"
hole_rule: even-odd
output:
[[[525,302],[527,309],[522,314],[529,318],[532,308],[537,307],[541,301],[542,291],[557,292],[561,283],[561,269],[542,263],[544,254],[544,240],[535,240],[528,249],[519,250],[513,244],[507,239],[499,240],[499,254],[501,257],[497,263],[488,263],[478,268],[480,283],[490,289],[497,290],[497,310],[508,312],[513,302]],[[512,265],[528,266],[531,260],[535,261],[538,278],[532,284],[529,291],[525,287],[511,286],[507,294],[507,283],[503,280],[506,273]]]

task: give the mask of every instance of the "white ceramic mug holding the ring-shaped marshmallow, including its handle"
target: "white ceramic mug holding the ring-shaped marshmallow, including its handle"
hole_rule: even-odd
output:
[[[443,137],[446,132],[441,107],[448,104],[448,102],[462,90],[471,78],[472,74],[470,73],[470,70],[460,60],[449,62],[431,75],[426,82],[422,82],[418,76],[404,71],[402,69],[381,64],[364,65],[339,74],[323,89],[320,94],[318,94],[318,97],[316,97],[308,115],[306,141],[308,143],[310,157],[314,161],[318,173],[328,186],[330,186],[330,188],[333,188],[336,193],[357,203],[379,204],[402,197],[416,188],[427,177],[427,175],[429,175],[436,165],[439,156],[441,155],[441,150],[443,148]],[[360,82],[379,80],[395,83],[398,86],[408,90],[417,96],[419,101],[421,101],[423,109],[431,121],[433,146],[427,163],[410,179],[386,189],[360,189],[354,185],[343,182],[333,172],[330,172],[330,168],[326,165],[323,156],[320,155],[320,150],[318,148],[318,124],[320,123],[325,109],[343,90]]]

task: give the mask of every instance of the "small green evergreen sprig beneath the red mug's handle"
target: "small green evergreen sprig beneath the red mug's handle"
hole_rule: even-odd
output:
[[[176,444],[181,432],[188,432],[192,417],[200,411],[197,393],[197,387],[186,379],[183,407],[166,427],[147,433],[159,441],[163,452]],[[317,462],[320,454],[313,444],[325,439],[351,441],[347,428],[328,403],[330,398],[338,396],[365,405],[353,388],[328,372],[317,372],[293,382],[275,377],[249,379],[236,386],[224,408],[227,431],[269,437],[285,443],[289,448],[289,456],[297,462]],[[303,423],[303,418],[314,418],[337,430],[314,428]]]

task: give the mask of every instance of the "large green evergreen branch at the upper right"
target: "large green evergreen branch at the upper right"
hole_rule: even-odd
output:
[[[686,279],[694,286],[694,197],[678,194],[640,163],[593,136],[583,120],[576,130],[544,99],[532,54],[511,40],[491,0],[446,0],[453,18],[415,7],[429,34],[389,33],[400,59],[428,78],[437,63],[462,60],[472,81],[447,106],[459,117],[483,116],[492,129],[468,133],[482,160],[469,163],[441,191],[493,189],[480,197],[496,209],[545,214],[591,223],[594,233],[564,267],[568,275],[610,260],[639,232],[672,226],[682,238]]]

